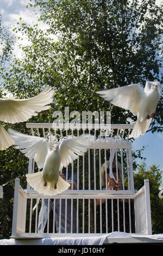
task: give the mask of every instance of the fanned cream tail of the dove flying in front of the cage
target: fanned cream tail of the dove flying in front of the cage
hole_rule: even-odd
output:
[[[62,179],[59,176],[58,182],[57,182],[57,189],[55,190],[53,182],[47,181],[47,186],[44,186],[44,181],[42,179],[42,172],[32,173],[32,174],[26,174],[27,182],[31,187],[34,188],[35,191],[37,191],[40,194],[46,194],[49,196],[54,196],[55,194],[59,194],[70,186],[70,184]]]

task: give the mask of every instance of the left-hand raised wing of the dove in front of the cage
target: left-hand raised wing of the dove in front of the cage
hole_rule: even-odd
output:
[[[39,168],[43,168],[45,163],[45,157],[50,151],[49,144],[45,138],[25,135],[20,132],[16,132],[12,129],[8,129],[8,133],[16,145],[16,149],[20,149],[21,152],[29,159],[35,160]]]

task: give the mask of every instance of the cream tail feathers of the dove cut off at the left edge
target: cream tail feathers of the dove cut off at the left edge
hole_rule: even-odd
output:
[[[14,144],[13,139],[10,137],[7,131],[0,124],[0,150],[4,150],[9,148],[12,144]]]

